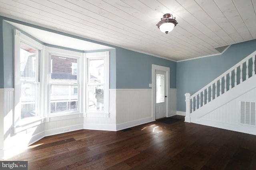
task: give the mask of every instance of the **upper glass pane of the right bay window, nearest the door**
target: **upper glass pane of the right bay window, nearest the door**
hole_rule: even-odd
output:
[[[104,59],[88,59],[88,83],[104,84]]]

